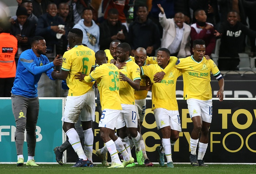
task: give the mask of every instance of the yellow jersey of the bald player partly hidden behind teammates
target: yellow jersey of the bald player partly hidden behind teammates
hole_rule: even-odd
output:
[[[135,62],[134,57],[130,56],[130,58]],[[168,65],[163,69],[163,72],[167,74],[168,72],[171,71],[173,68],[173,65],[177,62],[178,58],[171,56]],[[146,58],[146,61],[144,65],[151,65],[151,64],[157,64],[157,57],[148,57]],[[154,81],[151,81],[154,83]],[[146,86],[146,77],[141,75],[141,81],[140,81],[140,86]],[[134,92],[134,97],[135,100],[142,100],[147,97],[147,91],[146,90],[140,90],[140,91],[135,91]]]

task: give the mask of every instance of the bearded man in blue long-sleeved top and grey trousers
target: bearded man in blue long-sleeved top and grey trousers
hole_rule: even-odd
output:
[[[31,49],[20,54],[14,86],[12,87],[12,112],[16,122],[15,145],[18,155],[17,166],[23,166],[23,143],[25,128],[27,131],[28,160],[26,166],[38,166],[35,163],[35,129],[39,113],[37,95],[38,81],[42,73],[54,80],[51,73],[53,67],[62,65],[62,58],[57,55],[53,62],[49,62],[46,54],[46,42],[41,36],[31,40]]]

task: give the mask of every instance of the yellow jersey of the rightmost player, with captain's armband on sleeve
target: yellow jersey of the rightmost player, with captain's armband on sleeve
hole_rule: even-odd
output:
[[[184,99],[212,99],[211,72],[217,80],[223,78],[214,61],[206,60],[205,57],[200,62],[197,62],[193,55],[180,58],[175,67],[182,69]]]

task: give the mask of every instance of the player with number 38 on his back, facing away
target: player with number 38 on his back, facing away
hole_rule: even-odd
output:
[[[102,104],[102,115],[99,121],[101,138],[106,144],[106,148],[110,153],[112,164],[109,168],[124,167],[121,163],[116,145],[113,141],[114,128],[117,117],[120,114],[122,107],[119,96],[119,70],[114,64],[108,63],[106,53],[99,50],[95,53],[96,63],[99,67],[95,68],[90,76],[85,76],[82,73],[75,75],[80,81],[91,82],[97,80],[97,86]],[[116,139],[116,138],[114,138]],[[122,144],[121,144],[122,145]],[[123,147],[124,148],[124,147]]]

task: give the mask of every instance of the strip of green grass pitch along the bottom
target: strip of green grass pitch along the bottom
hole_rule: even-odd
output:
[[[71,167],[72,164],[39,164],[39,167],[17,167],[16,164],[0,164],[1,174],[255,174],[256,165],[249,164],[209,164],[208,167],[192,167],[190,164],[175,164],[174,168],[139,166],[108,169],[97,167]]]

